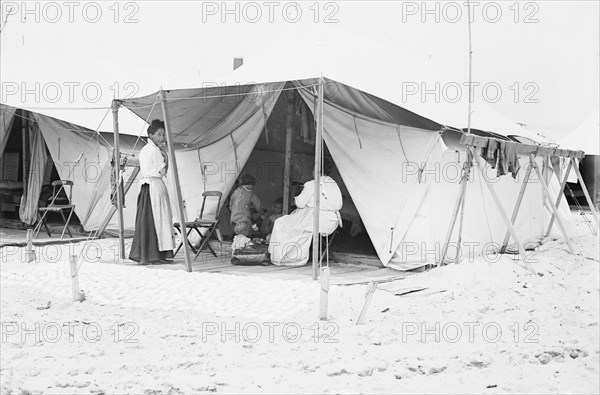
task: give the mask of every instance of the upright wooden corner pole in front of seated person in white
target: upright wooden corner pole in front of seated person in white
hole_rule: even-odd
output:
[[[321,155],[323,152],[323,77],[319,78],[319,96],[317,106],[317,130],[315,138],[315,202],[314,202],[314,224],[313,224],[313,280],[319,278],[319,213],[321,212]]]

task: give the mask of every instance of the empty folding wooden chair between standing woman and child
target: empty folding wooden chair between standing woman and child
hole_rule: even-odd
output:
[[[204,208],[206,207],[206,198],[208,198],[208,197],[217,198],[217,211],[216,211],[214,217],[211,216],[211,217],[205,218]],[[216,231],[219,241],[221,243],[223,243],[223,238],[222,238],[221,232],[219,231],[219,228],[218,228],[219,227],[219,214],[221,213],[221,198],[222,197],[223,197],[223,193],[221,193],[219,191],[204,192],[202,194],[203,200],[202,200],[202,208],[200,209],[200,216],[195,221],[185,223],[185,227],[188,230],[187,231],[188,245],[190,246],[192,251],[196,254],[194,259],[198,258],[198,255],[200,255],[200,251],[202,251],[202,249],[204,247],[208,248],[208,250],[211,252],[211,254],[213,254],[213,256],[215,258],[217,257],[217,253],[215,252],[215,250],[213,250],[213,248],[210,246],[208,241],[210,240],[212,234]],[[179,222],[176,222],[175,224],[173,224],[173,226],[175,227],[175,229],[177,229],[177,231],[180,234],[182,233],[181,232],[181,224]],[[200,231],[201,229],[205,229],[204,235]],[[192,233],[192,231],[194,231],[194,230],[196,231],[196,233],[198,233],[198,236],[200,236],[200,245],[199,245],[198,249],[194,248],[194,246],[192,245],[192,243],[190,243],[190,240],[189,240],[189,236]],[[177,249],[175,250],[174,255],[177,255],[177,253],[181,249],[182,245],[183,245],[183,241],[180,242],[179,245],[177,246]]]

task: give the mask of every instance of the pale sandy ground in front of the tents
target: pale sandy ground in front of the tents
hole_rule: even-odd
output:
[[[5,248],[1,393],[599,393],[599,243],[573,216],[577,255],[544,244],[537,276],[509,256],[420,273],[358,326],[365,285],[332,287],[323,322],[309,280],[98,263],[114,240]]]

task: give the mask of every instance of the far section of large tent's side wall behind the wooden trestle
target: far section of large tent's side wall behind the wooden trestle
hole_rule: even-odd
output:
[[[446,150],[439,163],[439,171],[427,177],[435,177],[430,180],[432,187],[427,194],[422,206],[415,216],[415,220],[409,232],[402,240],[400,248],[390,260],[390,267],[398,270],[411,270],[424,264],[435,263],[441,259],[444,237],[450,224],[452,206],[459,192],[462,164],[466,160],[464,150]],[[504,210],[510,216],[516,202],[521,183],[525,177],[528,158],[521,158],[521,170],[515,179],[507,174],[497,177],[496,170],[485,166],[487,180],[493,183],[500,197]],[[540,169],[542,160],[536,161]],[[502,217],[494,204],[494,200],[483,185],[479,169],[475,165],[471,169],[471,176],[467,184],[466,207],[464,215],[461,257],[472,260],[474,257],[484,254],[489,259],[500,259],[494,252],[499,250],[504,235],[507,231]],[[554,196],[559,190],[556,176],[549,171],[549,187]],[[559,207],[561,218],[570,231],[570,211],[565,199]],[[515,229],[524,243],[539,243],[544,237],[548,227],[551,213],[542,201],[542,188],[539,181],[532,176],[523,196],[521,208],[515,221]],[[456,240],[458,237],[458,226],[455,227],[449,243],[448,258],[454,260],[457,253]],[[562,238],[555,225],[551,233],[553,238]],[[509,250],[514,240],[509,241]],[[448,259],[447,258],[447,259]]]

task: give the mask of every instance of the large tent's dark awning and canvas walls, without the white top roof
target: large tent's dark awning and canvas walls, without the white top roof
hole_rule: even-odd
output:
[[[317,83],[318,78],[310,78],[170,90],[119,103],[142,119],[162,119],[164,95],[173,141],[187,147],[176,152],[176,159],[190,221],[204,190],[229,193],[261,135],[283,133],[265,128],[275,103],[296,91],[313,111]],[[462,131],[338,81],[325,78],[325,84],[331,89],[325,90],[323,138],[379,259],[401,270],[435,262],[466,159],[457,144]],[[510,209],[518,180],[488,173]],[[556,191],[557,182],[551,180]],[[506,231],[500,215],[486,211],[492,198],[481,182],[473,174],[469,188],[477,191],[469,197],[463,233],[474,253],[501,243]],[[176,196],[173,189],[171,184]],[[177,216],[176,199],[172,203]],[[516,228],[525,239],[541,239],[549,216],[539,185],[527,190],[523,206]],[[561,210],[564,215],[568,208],[563,204]]]

